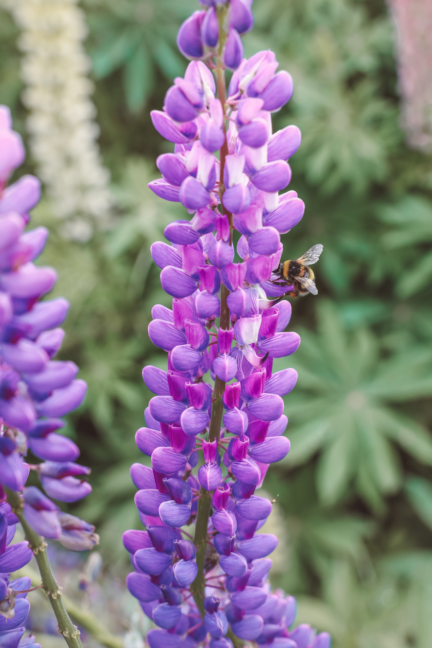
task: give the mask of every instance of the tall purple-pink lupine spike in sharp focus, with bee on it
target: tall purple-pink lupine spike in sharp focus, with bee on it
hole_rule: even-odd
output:
[[[290,304],[273,301],[290,286],[272,281],[280,234],[304,213],[295,191],[279,196],[301,133],[297,126],[273,133],[271,125],[293,84],[277,71],[273,52],[243,59],[239,34],[253,25],[251,1],[202,4],[177,38],[192,59],[185,77],[168,89],[164,110],[152,112],[155,128],[175,146],[158,157],[162,178],[149,186],[181,202],[191,218],[166,227],[170,245],[151,248],[172,308],[152,308],[148,334],[168,353],[168,369],[142,370],[154,396],[135,439],[152,468],[131,467],[146,531],[124,533],[135,568],[126,584],[159,626],[147,634],[150,648],[204,640],[230,648],[229,626],[258,645],[329,648],[327,633],[291,629],[295,599],[271,592],[268,556],[278,539],[258,533],[272,503],[255,494],[269,465],[290,450],[282,397],[297,381],[294,369],[273,373],[273,358],[290,356],[300,343],[285,331]],[[216,98],[215,66],[218,87],[223,69],[234,70],[227,98]],[[182,529],[191,524],[194,538]]]

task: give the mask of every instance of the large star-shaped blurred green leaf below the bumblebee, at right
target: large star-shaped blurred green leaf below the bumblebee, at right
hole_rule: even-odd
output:
[[[331,303],[320,305],[317,328],[318,334],[301,333],[299,351],[290,358],[299,381],[286,397],[293,449],[284,463],[298,466],[319,452],[321,501],[332,505],[354,488],[378,513],[383,496],[402,484],[394,444],[432,465],[431,435],[388,407],[432,393],[431,352],[415,347],[381,358],[372,332],[343,330]]]

